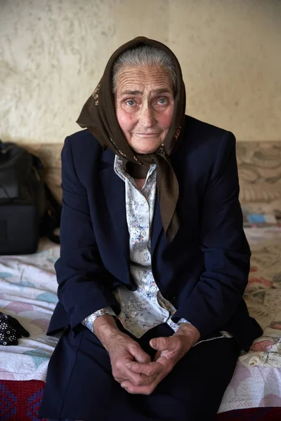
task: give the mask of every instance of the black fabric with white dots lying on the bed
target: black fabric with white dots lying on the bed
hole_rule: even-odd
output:
[[[30,334],[17,319],[0,312],[0,345],[18,345],[22,336],[27,338]]]

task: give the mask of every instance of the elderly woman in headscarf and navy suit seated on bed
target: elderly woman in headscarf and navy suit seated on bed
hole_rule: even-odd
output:
[[[185,116],[174,53],[138,37],[110,58],[65,140],[63,330],[40,416],[214,420],[261,328],[232,133]]]

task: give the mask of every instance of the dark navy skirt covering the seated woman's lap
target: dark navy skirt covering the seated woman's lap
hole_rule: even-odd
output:
[[[130,335],[121,325],[120,330]],[[152,356],[152,338],[171,336],[166,325],[136,339]],[[202,342],[185,354],[149,396],[129,394],[114,379],[110,358],[82,325],[66,330],[48,366],[39,417],[83,421],[214,420],[228,386],[240,347],[234,338]]]

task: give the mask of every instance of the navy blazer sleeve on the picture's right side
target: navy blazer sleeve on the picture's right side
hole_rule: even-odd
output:
[[[247,286],[251,253],[240,207],[235,136],[225,132],[204,192],[201,248],[204,272],[178,308],[205,337],[221,328],[237,309]]]

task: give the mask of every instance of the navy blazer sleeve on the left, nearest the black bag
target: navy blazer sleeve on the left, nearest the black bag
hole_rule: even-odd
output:
[[[70,326],[74,328],[86,316],[103,307],[111,306],[118,314],[119,305],[112,293],[112,275],[100,258],[87,191],[74,168],[70,138],[65,140],[61,158],[63,210],[60,258],[55,262],[55,271],[59,305],[63,305]]]

